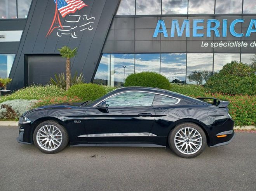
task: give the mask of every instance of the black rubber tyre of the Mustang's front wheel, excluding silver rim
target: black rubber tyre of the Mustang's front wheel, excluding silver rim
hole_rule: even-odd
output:
[[[37,143],[37,131],[42,127],[42,126],[45,126],[45,125],[54,125],[56,126],[57,128],[59,128],[59,130],[61,131],[61,134],[62,134],[62,142],[61,142],[61,145],[56,149],[56,150],[52,150],[52,151],[47,151],[47,150],[44,150],[42,149],[38,143]],[[60,152],[61,150],[63,150],[67,145],[68,145],[68,133],[67,133],[67,130],[66,128],[64,128],[63,125],[57,123],[57,121],[53,121],[53,120],[47,120],[47,121],[44,121],[40,124],[38,124],[38,126],[35,128],[35,131],[33,133],[33,141],[34,141],[34,144],[35,146],[43,153],[47,153],[47,154],[53,154],[53,153],[57,153],[57,152]]]

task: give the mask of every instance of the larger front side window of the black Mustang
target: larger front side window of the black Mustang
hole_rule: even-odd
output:
[[[106,99],[108,107],[152,106],[155,94],[146,92],[125,92]]]

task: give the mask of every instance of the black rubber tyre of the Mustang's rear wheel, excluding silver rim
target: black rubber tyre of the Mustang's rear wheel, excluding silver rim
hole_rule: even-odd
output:
[[[181,153],[176,148],[175,143],[174,143],[174,137],[175,137],[176,133],[184,127],[192,127],[195,130],[197,130],[202,136],[202,146],[201,146],[201,148],[199,149],[198,152],[196,152],[192,155],[186,155],[184,153]],[[169,133],[168,143],[169,143],[169,146],[171,147],[171,149],[174,151],[174,153],[176,153],[178,156],[183,157],[183,158],[194,158],[194,157],[199,156],[204,151],[204,149],[207,145],[207,139],[206,139],[204,130],[202,130],[202,128],[200,128],[200,126],[198,126],[197,124],[195,124],[195,123],[180,123],[180,124],[176,125],[175,128]]]

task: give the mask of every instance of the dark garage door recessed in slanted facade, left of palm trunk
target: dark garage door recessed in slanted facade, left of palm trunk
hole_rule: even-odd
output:
[[[66,60],[59,55],[28,56],[28,84],[49,84],[55,73],[65,72]]]

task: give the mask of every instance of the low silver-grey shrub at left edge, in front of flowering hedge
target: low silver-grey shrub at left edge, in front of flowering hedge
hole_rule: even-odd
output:
[[[17,119],[23,113],[30,110],[37,100],[14,99],[1,103],[1,119]]]

